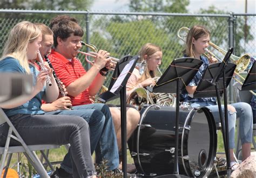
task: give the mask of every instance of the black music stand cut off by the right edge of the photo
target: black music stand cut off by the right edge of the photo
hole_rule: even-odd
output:
[[[255,90],[256,89],[256,65],[255,61],[253,62],[252,68],[250,69],[248,75],[245,78],[244,83],[241,87],[238,87],[239,90]]]

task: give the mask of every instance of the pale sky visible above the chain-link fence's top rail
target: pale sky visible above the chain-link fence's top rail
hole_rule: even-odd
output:
[[[90,10],[127,12],[129,2],[129,0],[94,0]],[[214,5],[218,10],[245,13],[245,2],[246,0],[190,0],[188,10],[190,13],[195,13],[200,8],[208,9],[208,6]],[[255,2],[255,0],[247,0],[247,13],[256,13]]]

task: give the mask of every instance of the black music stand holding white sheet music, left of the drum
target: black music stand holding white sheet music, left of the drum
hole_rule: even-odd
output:
[[[126,153],[126,83],[131,76],[131,73],[136,66],[139,55],[124,56],[117,62],[116,68],[109,85],[109,89],[98,96],[101,102],[111,101],[120,96],[121,104],[121,136],[122,136],[122,170],[123,177],[127,177],[127,153]]]

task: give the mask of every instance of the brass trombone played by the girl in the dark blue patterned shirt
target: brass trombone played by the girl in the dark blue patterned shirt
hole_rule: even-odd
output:
[[[190,29],[188,29],[188,27],[181,27],[178,32],[177,32],[177,36],[183,40],[184,42],[186,42],[186,37],[188,34],[188,31],[190,31]],[[217,51],[219,51],[221,54],[226,55],[226,51],[222,48],[220,48],[219,46],[213,44],[211,41],[209,42],[209,45],[212,46],[214,49],[217,49]],[[219,58],[217,58],[217,56],[215,54],[213,54],[211,51],[209,51],[207,48],[204,49],[205,52],[209,53],[211,56],[213,56],[214,58],[216,58],[218,61],[222,62],[222,60],[220,60]],[[208,58],[208,55],[204,53],[204,55],[206,56],[206,58]],[[235,65],[237,65],[237,67],[235,68],[234,74],[237,75],[241,80],[245,81],[245,78],[242,77],[239,73],[242,73],[245,71],[245,69],[248,67],[250,60],[251,60],[251,56],[248,54],[244,54],[242,55],[240,58],[238,56],[235,56],[233,54],[231,54],[230,59],[233,61],[233,63]],[[242,84],[241,81],[239,81],[237,78],[233,77],[233,79],[235,81],[237,81],[238,83]],[[250,92],[253,95],[256,95],[255,92],[253,92],[252,90],[250,90]]]

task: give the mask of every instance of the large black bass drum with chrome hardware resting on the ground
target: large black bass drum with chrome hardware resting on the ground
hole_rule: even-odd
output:
[[[139,125],[128,141],[138,173],[144,176],[173,174],[176,108],[150,105],[140,111]],[[210,174],[217,149],[217,133],[207,108],[179,111],[179,174]]]

